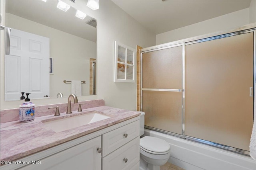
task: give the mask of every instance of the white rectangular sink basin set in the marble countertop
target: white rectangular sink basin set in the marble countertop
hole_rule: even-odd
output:
[[[66,117],[63,119],[57,119],[53,121],[44,122],[44,125],[49,127],[55,132],[62,132],[68,129],[72,129],[75,127],[80,127],[82,125],[87,125],[90,123],[94,123],[96,121],[101,121],[104,119],[108,119],[110,116],[104,115],[102,113],[91,112],[85,113],[83,115]]]

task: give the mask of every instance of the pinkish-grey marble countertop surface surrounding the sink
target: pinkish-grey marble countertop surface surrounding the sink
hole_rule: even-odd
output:
[[[53,120],[60,119],[60,117],[86,114],[85,112],[90,111],[98,111],[111,117],[58,133],[54,132],[43,123],[49,119]],[[29,154],[48,149],[60,143],[104,129],[105,127],[109,127],[116,123],[126,121],[140,115],[140,112],[100,106],[83,109],[82,112],[72,111],[71,114],[60,114],[60,116],[46,115],[36,117],[34,121],[27,123],[20,123],[19,121],[0,123],[0,160],[17,160]]]

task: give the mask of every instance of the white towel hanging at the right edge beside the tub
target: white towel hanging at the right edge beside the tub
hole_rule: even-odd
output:
[[[256,160],[256,103],[254,100],[254,121],[253,121],[253,127],[252,127],[252,136],[250,141],[250,156]]]

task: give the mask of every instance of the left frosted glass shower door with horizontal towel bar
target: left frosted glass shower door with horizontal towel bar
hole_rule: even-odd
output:
[[[182,135],[184,45],[142,54],[142,111],[145,126]]]

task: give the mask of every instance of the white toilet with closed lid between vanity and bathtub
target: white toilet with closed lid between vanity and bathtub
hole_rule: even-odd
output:
[[[140,137],[144,134],[144,116],[140,114]],[[170,145],[163,139],[145,136],[140,138],[140,170],[160,170],[170,156]]]

